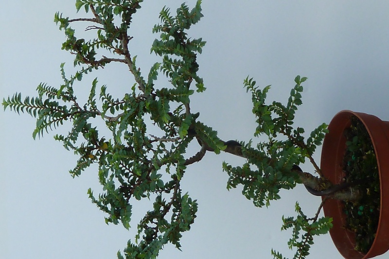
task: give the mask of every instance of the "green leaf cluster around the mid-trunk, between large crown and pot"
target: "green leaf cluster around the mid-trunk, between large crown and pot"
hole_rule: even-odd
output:
[[[305,130],[293,128],[297,106],[302,104],[301,84],[306,79],[295,78],[296,85],[290,91],[286,105],[276,101],[266,104],[270,86],[260,89],[252,78],[247,77],[244,81],[247,91],[251,92],[252,112],[258,123],[254,136],[265,135],[268,140],[260,142],[256,148],[252,148],[250,142],[243,147],[248,158],[243,167],[231,167],[225,163],[223,169],[230,176],[227,188],[243,185],[242,193],[257,207],[269,206],[271,200],[280,199],[278,193],[281,189],[296,186],[299,177],[293,172],[293,165],[303,163],[306,157],[313,161],[312,154],[327,132],[327,125],[322,124],[305,140],[302,135]]]

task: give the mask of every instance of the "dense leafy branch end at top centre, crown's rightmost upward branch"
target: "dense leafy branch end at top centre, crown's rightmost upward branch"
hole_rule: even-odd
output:
[[[197,75],[196,52],[201,54],[206,42],[202,38],[188,38],[185,30],[196,24],[201,17],[201,0],[197,0],[191,11],[183,3],[175,17],[171,16],[170,8],[165,6],[159,14],[161,24],[153,28],[154,33],[160,33],[160,39],[155,39],[151,47],[151,52],[163,57],[160,70],[171,78],[173,86],[189,88],[195,80],[197,92],[204,91],[205,87],[203,79]]]

